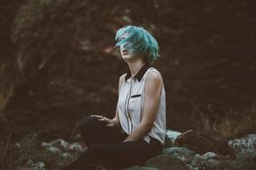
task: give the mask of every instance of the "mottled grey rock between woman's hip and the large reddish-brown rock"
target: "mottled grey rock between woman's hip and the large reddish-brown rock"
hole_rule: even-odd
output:
[[[172,147],[169,149],[163,149],[163,153],[171,157],[179,158],[185,164],[189,164],[196,153],[185,147]]]

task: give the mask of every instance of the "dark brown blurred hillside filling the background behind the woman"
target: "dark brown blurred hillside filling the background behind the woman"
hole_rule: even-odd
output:
[[[8,0],[0,3],[0,140],[67,139],[85,115],[113,117],[128,67],[115,32],[158,40],[167,126],[256,132],[252,0]]]

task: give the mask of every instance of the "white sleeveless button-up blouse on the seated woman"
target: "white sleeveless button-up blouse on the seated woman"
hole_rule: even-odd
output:
[[[143,71],[139,72],[144,73]],[[149,72],[158,71],[154,67],[150,67],[145,71],[144,75],[141,75],[141,80],[136,79],[136,76],[129,77],[120,87],[118,101],[119,122],[124,132],[128,134],[133,132],[136,129],[137,125],[141,122],[145,97],[145,81],[146,75]],[[165,91],[163,86],[156,118],[154,120],[154,126],[152,127],[151,131],[148,132],[144,137],[144,140],[146,140],[146,142],[150,141],[150,136],[164,143],[166,131],[165,113]]]

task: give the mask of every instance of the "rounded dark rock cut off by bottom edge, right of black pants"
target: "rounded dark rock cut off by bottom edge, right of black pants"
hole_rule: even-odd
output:
[[[166,154],[153,157],[146,161],[146,166],[152,166],[161,170],[189,170],[179,158],[174,158]]]

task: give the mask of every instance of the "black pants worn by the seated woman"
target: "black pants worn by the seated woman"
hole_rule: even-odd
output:
[[[117,128],[107,127],[90,115],[79,123],[79,130],[88,149],[84,155],[61,170],[93,169],[93,166],[108,165],[126,167],[142,165],[147,159],[162,153],[159,140],[122,142],[128,136]]]

